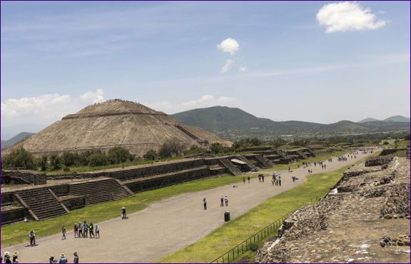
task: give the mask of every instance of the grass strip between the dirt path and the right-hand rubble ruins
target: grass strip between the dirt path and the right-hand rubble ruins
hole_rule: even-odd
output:
[[[315,203],[340,180],[347,167],[340,168],[338,171],[308,176],[308,180],[303,185],[268,198],[249,210],[248,213],[225,223],[221,228],[214,230],[196,243],[167,255],[159,262],[209,263],[272,223],[273,220],[303,205]]]

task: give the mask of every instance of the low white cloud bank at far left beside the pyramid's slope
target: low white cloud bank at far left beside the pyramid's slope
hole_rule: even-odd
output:
[[[91,103],[104,101],[103,90],[88,91],[81,96],[44,94],[36,97],[10,98],[1,102],[1,126],[39,121],[51,123],[75,113]]]

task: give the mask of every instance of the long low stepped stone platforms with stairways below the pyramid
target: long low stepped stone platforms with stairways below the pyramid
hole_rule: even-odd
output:
[[[2,180],[6,182],[1,185],[1,223],[13,223],[25,217],[42,220],[141,191],[210,176],[236,176],[271,166],[263,156],[237,155],[61,174],[47,179],[36,172],[3,171],[6,177]]]

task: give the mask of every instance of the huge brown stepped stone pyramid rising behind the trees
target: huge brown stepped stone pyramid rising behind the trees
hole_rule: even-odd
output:
[[[230,144],[202,128],[183,125],[166,113],[141,103],[116,99],[65,116],[6,152],[23,147],[38,156],[94,148],[106,151],[122,146],[136,156],[143,156],[151,149],[158,150],[168,140],[178,141],[188,148],[213,142]]]

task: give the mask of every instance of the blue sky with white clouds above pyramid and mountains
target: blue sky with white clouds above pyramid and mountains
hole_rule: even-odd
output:
[[[113,98],[273,121],[410,116],[409,1],[1,1],[0,55],[1,126],[27,131]]]

